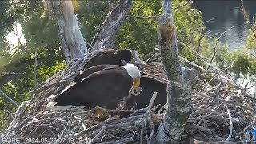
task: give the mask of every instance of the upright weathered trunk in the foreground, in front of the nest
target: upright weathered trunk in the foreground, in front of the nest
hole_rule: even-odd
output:
[[[171,0],[163,2],[164,14],[158,18],[158,45],[168,79],[191,87],[193,70],[182,69],[178,61],[178,46],[174,30]],[[191,94],[178,86],[167,86],[167,108],[154,143],[178,143],[190,115]]]

